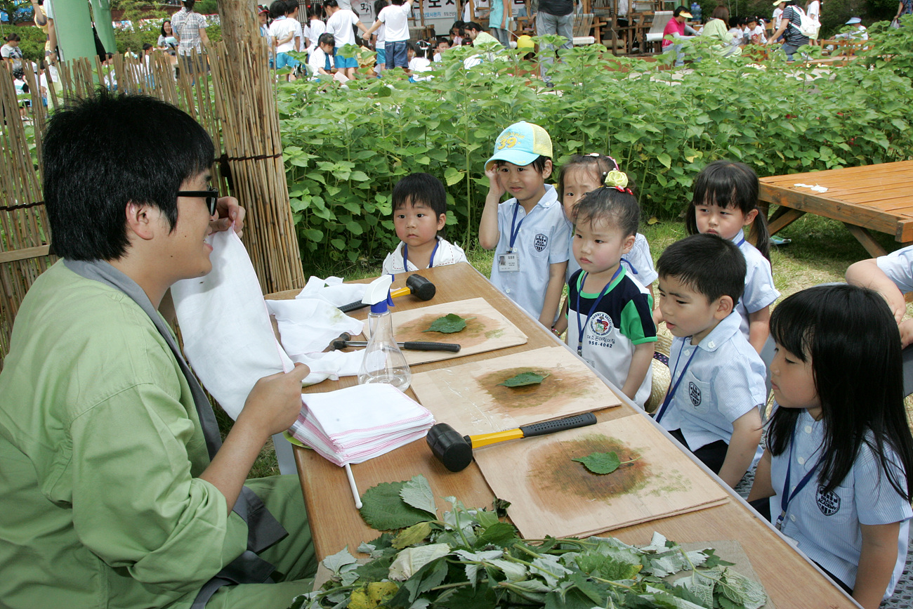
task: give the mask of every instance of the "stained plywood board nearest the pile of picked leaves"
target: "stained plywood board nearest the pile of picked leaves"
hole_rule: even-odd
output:
[[[603,476],[575,457],[614,451]],[[728,494],[642,415],[478,448],[488,486],[523,537],[591,535],[728,501]]]

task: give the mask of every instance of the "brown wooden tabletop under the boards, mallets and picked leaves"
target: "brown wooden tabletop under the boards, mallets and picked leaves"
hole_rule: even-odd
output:
[[[530,340],[525,345],[495,352],[417,365],[413,367],[414,373],[542,347],[564,348],[549,331],[519,310],[513,302],[495,289],[488,279],[469,265],[429,268],[421,271],[421,275],[430,279],[437,287],[433,303],[484,297],[526,333]],[[397,276],[394,287],[402,284],[404,278],[404,275]],[[280,292],[269,298],[293,298],[296,293],[297,290]],[[413,309],[422,304],[409,297],[397,299],[397,308],[401,310]],[[324,381],[307,387],[305,393],[332,391],[354,383],[354,377],[343,377],[338,382]],[[409,393],[412,393],[411,389]],[[598,414],[600,420],[624,416],[646,415],[627,404]],[[313,451],[297,446],[295,460],[318,558],[323,559],[340,551],[345,545],[354,553],[361,541],[371,541],[379,535],[378,531],[364,523],[354,508],[352,494],[341,467],[331,464]],[[509,467],[509,464],[506,467]],[[381,482],[407,480],[422,474],[428,478],[438,498],[454,496],[467,507],[488,506],[494,499],[494,494],[475,463],[461,472],[451,473],[435,459],[423,441],[416,441],[382,457],[353,465],[352,474],[362,491]],[[443,501],[438,499],[438,509],[445,508]],[[655,530],[670,540],[682,543],[723,539],[740,541],[750,558],[751,566],[778,607],[856,606],[842,590],[817,571],[812,563],[793,551],[789,543],[773,530],[769,523],[759,519],[735,493],[731,493],[729,503],[715,508],[651,520],[644,524],[613,530],[611,534],[627,543],[646,544]]]

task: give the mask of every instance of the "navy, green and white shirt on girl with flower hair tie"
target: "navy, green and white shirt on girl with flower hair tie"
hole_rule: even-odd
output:
[[[631,369],[635,347],[645,342],[656,342],[653,300],[644,286],[628,277],[626,270],[615,278],[611,289],[598,303],[595,300],[599,294],[589,294],[581,289],[582,272],[577,271],[568,284],[568,345],[576,350],[580,337],[579,324],[582,323],[583,361],[621,389]],[[634,399],[641,408],[649,399],[652,388],[653,373],[648,368]]]

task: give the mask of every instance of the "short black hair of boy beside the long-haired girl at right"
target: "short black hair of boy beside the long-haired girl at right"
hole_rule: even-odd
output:
[[[708,302],[729,296],[734,306],[745,290],[745,256],[729,239],[709,233],[666,247],[656,261],[656,272],[660,278],[677,278]]]

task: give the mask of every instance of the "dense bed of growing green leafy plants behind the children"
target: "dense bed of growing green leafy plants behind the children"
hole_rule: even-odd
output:
[[[872,30],[872,44],[896,49],[893,57],[841,68],[787,64],[779,50],[759,63],[711,60],[697,48],[691,57],[705,60],[683,73],[666,69],[667,58],[614,58],[591,45],[561,51],[550,91],[540,87],[536,64],[512,51],[464,69],[462,59],[477,52],[464,47],[447,51],[424,82],[386,73],[349,89],[280,83],[302,254],[306,263],[376,264],[398,243],[394,184],[415,172],[446,184],[447,238],[475,245],[488,193],[484,163],[498,133],[516,121],[549,131],[556,167],[572,154],[614,156],[647,216],[677,216],[700,170],[721,158],[760,176],[904,160],[913,150],[913,93],[903,62],[913,53],[901,49],[913,45],[913,26]]]

